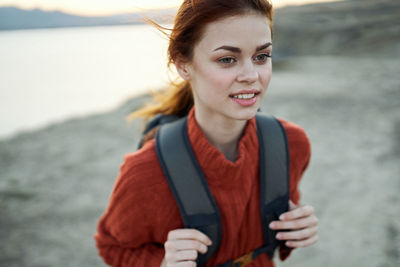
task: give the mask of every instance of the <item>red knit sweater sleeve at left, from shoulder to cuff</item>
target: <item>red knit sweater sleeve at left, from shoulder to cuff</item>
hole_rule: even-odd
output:
[[[144,158],[125,157],[108,207],[97,226],[98,253],[111,266],[155,267],[160,266],[164,257],[162,244],[166,237],[157,227],[162,215],[157,196],[152,194],[153,189],[159,189],[160,182],[157,178],[148,179],[159,176],[160,170],[154,164],[152,168],[143,166]]]

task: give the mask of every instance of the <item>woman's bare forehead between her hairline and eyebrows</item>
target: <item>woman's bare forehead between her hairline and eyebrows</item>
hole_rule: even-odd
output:
[[[230,45],[254,49],[271,41],[269,20],[261,14],[250,13],[209,23],[197,47],[213,50],[222,45]]]

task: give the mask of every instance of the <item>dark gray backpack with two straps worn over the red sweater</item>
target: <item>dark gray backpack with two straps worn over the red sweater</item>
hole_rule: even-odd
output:
[[[271,230],[269,224],[289,210],[289,151],[286,132],[277,119],[257,113],[256,123],[264,245],[243,257],[255,259],[262,253],[267,253],[272,259],[276,247],[282,241],[275,238],[276,231]],[[190,145],[187,117],[157,115],[147,124],[144,135],[155,127],[159,127],[156,134],[157,157],[185,228],[197,229],[212,240],[207,253],[198,255],[197,266],[202,266],[216,253],[221,242],[222,225],[218,206]],[[143,138],[139,147],[142,143]],[[245,261],[242,260],[246,259],[241,258],[219,266],[237,266],[237,263],[244,266]]]

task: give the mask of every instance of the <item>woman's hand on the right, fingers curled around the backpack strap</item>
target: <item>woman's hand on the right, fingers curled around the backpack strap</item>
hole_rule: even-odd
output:
[[[311,246],[318,240],[318,219],[311,206],[296,206],[289,202],[289,211],[273,221],[269,227],[277,230],[276,238],[286,240],[285,245],[291,248]],[[279,230],[289,230],[279,232]]]

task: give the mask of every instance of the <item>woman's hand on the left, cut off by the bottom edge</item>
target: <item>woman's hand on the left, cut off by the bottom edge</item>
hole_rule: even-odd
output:
[[[161,267],[195,267],[198,253],[205,254],[211,240],[195,229],[177,229],[168,233]]]

